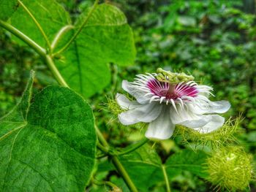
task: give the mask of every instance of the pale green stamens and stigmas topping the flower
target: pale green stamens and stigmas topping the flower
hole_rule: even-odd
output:
[[[157,69],[157,80],[160,82],[170,82],[171,84],[176,84],[178,82],[188,82],[194,80],[192,75],[187,75],[182,73],[173,73],[170,71],[165,71],[162,68]]]

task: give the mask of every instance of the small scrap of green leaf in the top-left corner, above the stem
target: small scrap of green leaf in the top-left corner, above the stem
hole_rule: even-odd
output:
[[[0,0],[0,20],[8,20],[18,8],[17,0]]]

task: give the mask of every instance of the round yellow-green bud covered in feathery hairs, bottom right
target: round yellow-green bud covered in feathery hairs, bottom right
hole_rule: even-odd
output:
[[[252,180],[252,157],[241,147],[220,147],[207,160],[208,180],[229,191],[244,190]]]

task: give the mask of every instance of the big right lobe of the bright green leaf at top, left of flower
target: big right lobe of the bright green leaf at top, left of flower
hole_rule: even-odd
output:
[[[88,12],[80,15],[74,31],[86,20]],[[89,97],[110,83],[108,63],[125,66],[133,64],[134,59],[133,34],[123,12],[101,4],[63,53],[57,67],[71,88]]]

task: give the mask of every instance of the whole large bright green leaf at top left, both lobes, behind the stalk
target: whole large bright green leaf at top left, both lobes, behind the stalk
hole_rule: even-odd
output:
[[[135,45],[132,29],[118,8],[101,4],[89,20],[87,18],[91,9],[86,9],[72,26],[69,15],[56,1],[22,2],[26,8],[20,5],[12,15],[12,26],[42,47],[47,47],[42,31],[48,42],[54,45],[53,52],[58,52],[81,29],[68,49],[58,55],[56,58],[59,59],[55,61],[69,87],[83,96],[92,96],[110,83],[109,63],[133,64]],[[83,26],[85,20],[88,22]]]

